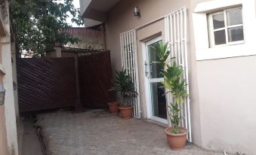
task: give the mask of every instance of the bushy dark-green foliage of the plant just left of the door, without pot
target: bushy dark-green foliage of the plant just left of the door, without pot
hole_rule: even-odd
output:
[[[128,74],[124,68],[121,71],[116,71],[116,77],[112,84],[113,87],[111,87],[110,91],[121,93],[122,106],[131,106],[133,104],[132,99],[137,96],[131,74]]]

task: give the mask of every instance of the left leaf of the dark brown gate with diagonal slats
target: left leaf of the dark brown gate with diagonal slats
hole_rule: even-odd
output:
[[[71,107],[76,102],[73,58],[17,59],[20,112]]]

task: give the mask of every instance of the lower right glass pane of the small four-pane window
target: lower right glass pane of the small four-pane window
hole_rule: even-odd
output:
[[[244,32],[242,26],[227,29],[227,33],[229,35],[229,42],[244,40]]]

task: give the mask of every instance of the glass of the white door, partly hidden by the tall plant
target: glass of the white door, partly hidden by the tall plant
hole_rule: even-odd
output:
[[[147,44],[151,98],[150,100],[152,106],[152,116],[167,119],[166,100],[165,96],[163,96],[163,94],[165,93],[165,88],[161,83],[164,78],[161,74],[163,68],[161,65],[157,65],[156,63],[154,63],[158,62],[159,58],[156,56],[156,52],[153,50],[153,47],[156,46],[156,44],[158,44],[160,41],[153,42],[152,44]]]

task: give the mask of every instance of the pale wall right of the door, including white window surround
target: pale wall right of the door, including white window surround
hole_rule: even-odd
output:
[[[201,2],[192,3],[192,9],[202,147],[256,154],[255,2]],[[206,14],[235,5],[243,8],[245,43],[209,48]]]

